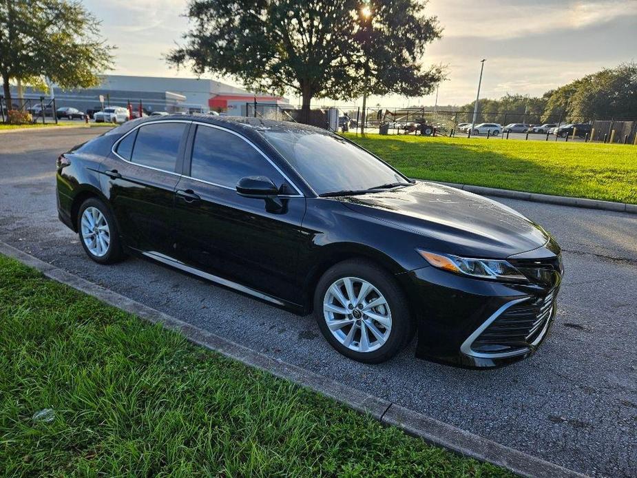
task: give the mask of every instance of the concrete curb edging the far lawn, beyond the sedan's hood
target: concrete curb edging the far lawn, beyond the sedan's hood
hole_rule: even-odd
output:
[[[455,183],[442,183],[441,181],[431,181],[442,185],[463,189],[481,196],[496,196],[499,198],[519,199],[532,202],[546,202],[561,206],[585,207],[587,209],[601,209],[603,211],[627,212],[637,214],[637,205],[626,202],[602,201],[597,199],[570,198],[568,196],[551,196],[550,194],[528,193],[524,191],[512,191],[510,189],[497,189],[494,187],[472,186]]]

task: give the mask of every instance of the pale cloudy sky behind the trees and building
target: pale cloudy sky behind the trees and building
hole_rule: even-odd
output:
[[[102,33],[116,45],[109,73],[194,77],[169,67],[163,54],[188,29],[186,0],[83,0],[103,21]],[[637,0],[430,0],[426,7],[443,28],[443,37],[426,50],[426,65],[446,65],[439,105],[463,105],[477,92],[480,60],[485,58],[481,98],[504,94],[539,96],[585,74],[636,61]],[[230,79],[206,76],[238,85]],[[291,103],[298,98],[287,96]],[[329,105],[315,100],[313,105]],[[361,105],[362,101],[335,102]],[[372,97],[386,107],[433,105],[424,98]]]

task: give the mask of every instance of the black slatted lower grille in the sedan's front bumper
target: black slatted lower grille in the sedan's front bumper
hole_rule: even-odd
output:
[[[471,349],[479,353],[506,353],[535,346],[552,318],[557,290],[505,309],[474,340]]]

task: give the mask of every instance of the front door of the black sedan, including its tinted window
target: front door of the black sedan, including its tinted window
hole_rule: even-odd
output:
[[[196,129],[195,129],[196,128]],[[193,125],[185,176],[176,191],[178,259],[289,302],[294,290],[305,198],[258,147],[229,129]],[[265,176],[281,191],[273,204],[236,191]]]

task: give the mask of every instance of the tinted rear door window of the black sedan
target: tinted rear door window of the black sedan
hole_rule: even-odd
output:
[[[132,162],[173,172],[185,123],[157,123],[138,129]]]

